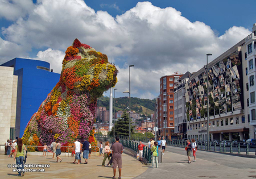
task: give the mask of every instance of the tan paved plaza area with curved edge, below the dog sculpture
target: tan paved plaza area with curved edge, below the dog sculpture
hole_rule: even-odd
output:
[[[75,157],[62,156],[61,163],[55,163],[56,160],[51,157],[28,156],[26,164],[49,164],[49,168],[44,168],[45,172],[27,172],[23,178],[112,178],[113,169],[111,167],[101,166],[103,157],[91,156],[88,164],[73,164]],[[105,164],[108,163],[108,159]],[[7,164],[16,164],[13,158],[8,158],[5,155],[0,155],[0,179],[17,178],[18,173],[13,172],[15,168],[7,168]],[[134,178],[147,170],[138,160],[122,154],[122,178]],[[38,168],[42,169],[42,168]],[[118,176],[118,171],[116,176]]]

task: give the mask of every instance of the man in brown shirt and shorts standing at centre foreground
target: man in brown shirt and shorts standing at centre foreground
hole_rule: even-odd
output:
[[[119,177],[121,179],[121,172],[122,172],[122,153],[123,153],[123,145],[119,143],[119,136],[115,137],[115,143],[112,145],[112,158],[113,158],[113,173],[115,178],[115,173],[117,172],[117,165],[118,165],[118,172]]]

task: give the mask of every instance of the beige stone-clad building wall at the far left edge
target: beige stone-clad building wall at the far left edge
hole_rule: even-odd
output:
[[[0,143],[15,138],[18,76],[13,67],[0,66]]]

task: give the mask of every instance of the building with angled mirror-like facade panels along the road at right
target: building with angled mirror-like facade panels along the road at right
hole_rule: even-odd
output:
[[[255,30],[208,64],[210,141],[255,138]],[[206,68],[185,84],[185,101],[188,138],[207,140]]]

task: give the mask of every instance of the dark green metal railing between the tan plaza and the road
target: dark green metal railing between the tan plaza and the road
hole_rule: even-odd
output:
[[[115,143],[113,136],[96,136],[96,139],[98,141],[109,141],[110,143]],[[119,142],[123,145],[123,147],[127,147],[137,153],[139,143],[137,141],[133,141],[133,139],[129,140],[129,136],[120,136]],[[146,159],[147,163],[152,162],[151,149],[147,146],[143,147],[143,157]]]

